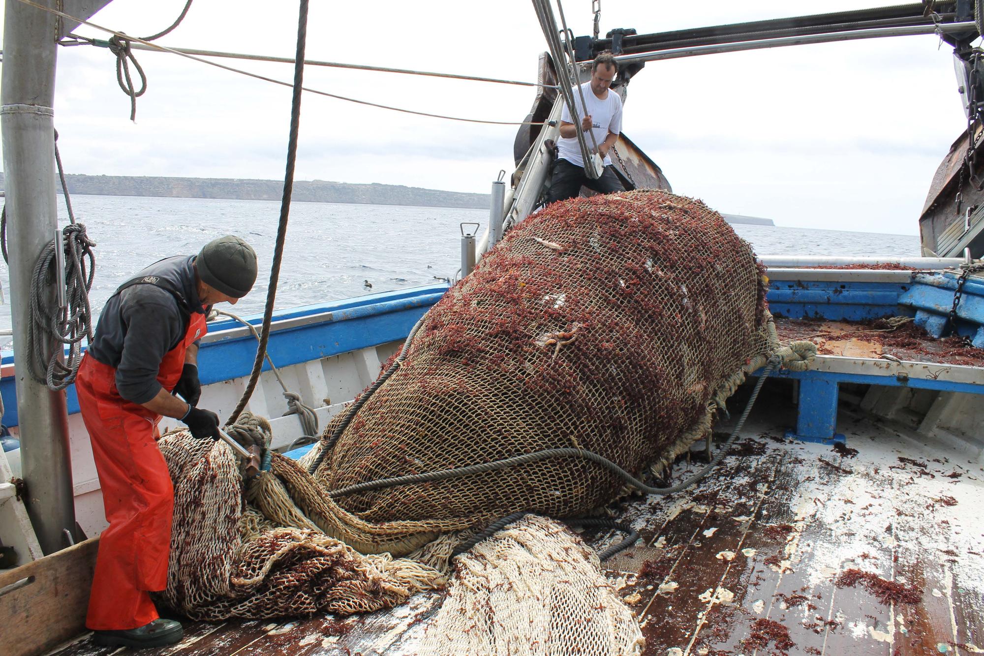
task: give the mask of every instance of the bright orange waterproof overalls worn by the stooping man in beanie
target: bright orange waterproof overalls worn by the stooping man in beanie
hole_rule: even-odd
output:
[[[181,377],[185,351],[205,335],[205,321],[193,312],[184,338],[160,361],[157,382],[168,392]],[[109,521],[99,539],[86,625],[137,628],[159,617],[149,592],[167,585],[174,490],[156,443],[160,415],[123,399],[115,367],[89,354],[75,388]]]

